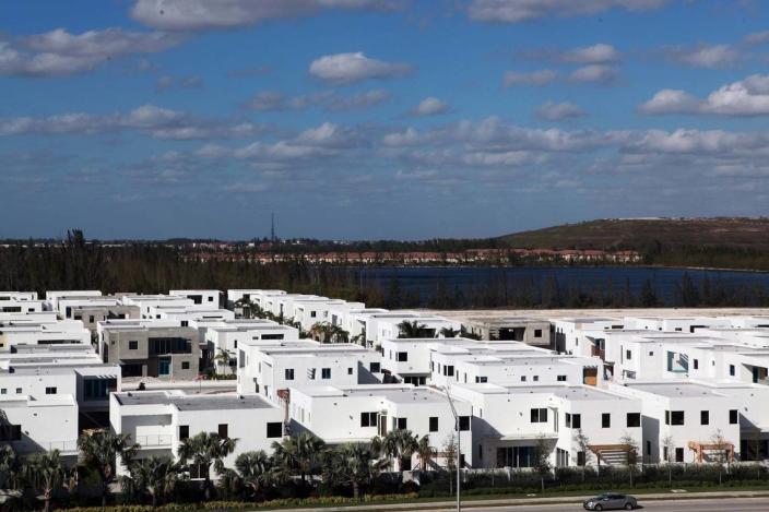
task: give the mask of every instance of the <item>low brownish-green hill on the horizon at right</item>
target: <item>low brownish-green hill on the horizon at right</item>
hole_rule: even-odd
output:
[[[769,250],[769,218],[607,218],[500,237],[513,248],[730,247]]]

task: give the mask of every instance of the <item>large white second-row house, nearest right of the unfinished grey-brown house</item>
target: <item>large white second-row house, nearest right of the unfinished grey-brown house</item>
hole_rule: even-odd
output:
[[[292,386],[355,385],[380,381],[379,353],[345,343],[251,340],[238,344],[238,392],[277,403]]]

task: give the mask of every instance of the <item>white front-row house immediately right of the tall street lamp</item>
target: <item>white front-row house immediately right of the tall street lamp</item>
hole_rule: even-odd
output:
[[[625,437],[640,452],[641,403],[589,385],[456,384],[451,394],[473,404],[475,467],[533,467],[540,443],[556,467],[624,465]],[[577,434],[589,438],[590,454]]]

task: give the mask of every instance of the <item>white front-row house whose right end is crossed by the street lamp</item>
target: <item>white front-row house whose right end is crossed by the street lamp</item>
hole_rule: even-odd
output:
[[[407,429],[419,438],[429,436],[439,452],[456,432],[451,407],[443,392],[409,384],[313,385],[291,388],[292,432],[309,430],[330,444],[369,442],[394,429]],[[471,404],[454,400],[462,418],[461,444],[465,466],[473,466],[471,453]],[[412,467],[416,464],[414,455]],[[401,468],[401,469],[411,469]]]

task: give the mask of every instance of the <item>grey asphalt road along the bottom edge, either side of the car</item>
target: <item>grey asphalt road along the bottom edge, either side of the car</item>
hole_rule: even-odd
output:
[[[767,512],[769,498],[724,498],[701,500],[639,500],[641,511],[653,512]],[[418,509],[413,509],[414,511]],[[452,512],[456,509],[429,509],[430,512]],[[463,509],[468,512],[569,512],[583,510],[580,504],[541,504],[510,507],[472,507]]]

